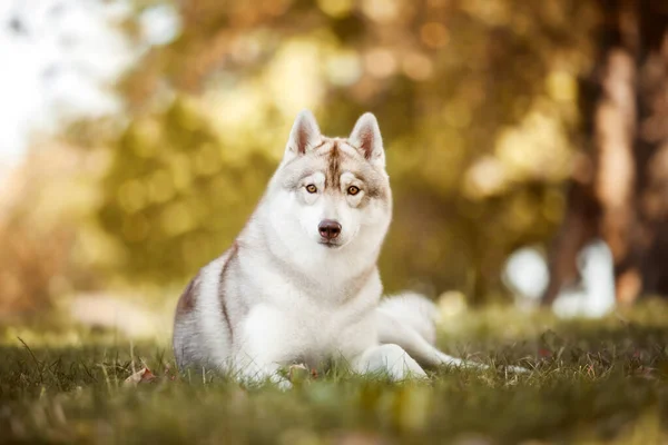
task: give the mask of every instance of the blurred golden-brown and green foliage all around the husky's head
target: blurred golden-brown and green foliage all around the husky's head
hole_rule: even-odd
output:
[[[190,0],[180,33],[119,83],[98,217],[132,283],[184,281],[227,248],[262,195],[302,108],[345,136],[372,111],[395,195],[386,289],[500,290],[507,255],[544,243],[578,141],[591,2]],[[130,38],[137,32],[127,27]]]

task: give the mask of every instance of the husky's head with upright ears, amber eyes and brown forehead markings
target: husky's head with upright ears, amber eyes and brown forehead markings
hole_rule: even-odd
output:
[[[313,115],[302,111],[271,188],[272,226],[288,245],[323,251],[380,248],[392,195],[376,118],[363,115],[347,139],[327,138]]]

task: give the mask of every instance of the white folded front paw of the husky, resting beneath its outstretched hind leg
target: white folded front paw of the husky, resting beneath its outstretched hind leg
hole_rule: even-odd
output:
[[[418,362],[397,345],[372,346],[355,357],[352,365],[356,373],[383,374],[392,380],[426,377]]]

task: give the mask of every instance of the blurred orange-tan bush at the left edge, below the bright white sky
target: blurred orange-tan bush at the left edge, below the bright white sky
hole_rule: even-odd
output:
[[[52,297],[102,285],[118,255],[96,224],[108,157],[53,140],[33,148],[0,194],[0,322],[39,314]]]

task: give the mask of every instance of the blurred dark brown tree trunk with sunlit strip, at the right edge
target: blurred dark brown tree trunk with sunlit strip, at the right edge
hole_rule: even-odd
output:
[[[617,300],[668,295],[668,3],[598,0],[597,59],[581,80],[582,146],[543,303],[578,278],[578,251],[602,238]]]

